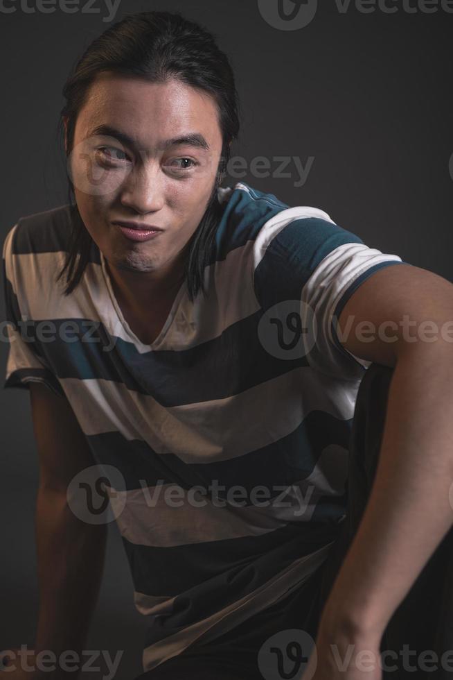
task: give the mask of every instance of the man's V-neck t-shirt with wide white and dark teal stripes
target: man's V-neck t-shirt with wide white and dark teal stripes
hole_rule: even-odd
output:
[[[65,396],[96,464],[121,473],[110,501],[145,616],[145,671],[281,600],[326,559],[371,363],[341,346],[337,318],[373,272],[405,264],[245,182],[218,201],[206,296],[191,302],[184,282],[150,345],[94,241],[78,287],[64,296],[55,282],[70,205],[19,219],[3,243],[4,386]]]

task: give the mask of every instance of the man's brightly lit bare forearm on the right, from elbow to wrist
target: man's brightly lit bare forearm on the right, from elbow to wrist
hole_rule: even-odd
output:
[[[375,481],[321,618],[323,631],[382,636],[453,523],[452,344],[398,357]]]

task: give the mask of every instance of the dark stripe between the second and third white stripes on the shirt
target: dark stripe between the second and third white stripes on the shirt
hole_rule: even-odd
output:
[[[121,470],[124,486],[118,491],[175,482],[186,490],[202,484],[208,491],[211,482],[217,480],[224,486],[218,492],[220,498],[236,484],[244,488],[246,498],[251,498],[256,486],[265,486],[269,498],[274,498],[281,493],[276,486],[290,486],[309,477],[329,445],[348,450],[351,423],[352,419],[310,411],[293,432],[278,441],[229,460],[200,463],[185,463],[175,454],[159,454],[145,441],[128,441],[121,432],[89,435],[87,441],[99,464]]]

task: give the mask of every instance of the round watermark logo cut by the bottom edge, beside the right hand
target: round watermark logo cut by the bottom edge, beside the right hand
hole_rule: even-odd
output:
[[[258,668],[264,680],[310,680],[313,673],[305,673],[309,658],[310,668],[316,667],[312,636],[297,628],[287,629],[267,638],[260,647]]]

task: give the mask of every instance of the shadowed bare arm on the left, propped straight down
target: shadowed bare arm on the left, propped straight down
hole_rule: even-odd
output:
[[[30,402],[39,454],[35,519],[39,617],[35,654],[51,650],[58,661],[62,652],[71,650],[79,658],[71,665],[80,668],[103,574],[107,525],[90,524],[76,517],[67,502],[66,489],[80,470],[96,461],[66,398],[43,384],[31,383]],[[46,671],[42,677],[50,680],[79,676],[74,670],[64,672],[56,665],[55,673]]]

